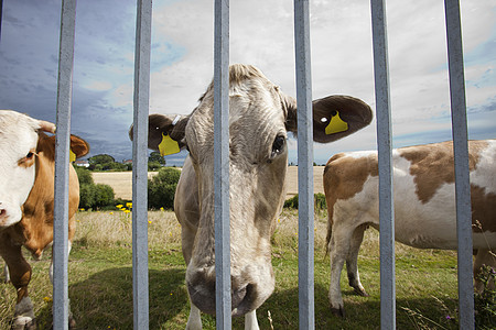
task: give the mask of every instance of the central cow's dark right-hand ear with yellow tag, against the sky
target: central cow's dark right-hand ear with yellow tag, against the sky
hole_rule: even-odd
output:
[[[285,98],[288,131],[296,133],[296,102]],[[312,102],[313,141],[328,143],[368,125],[373,119],[370,107],[364,101],[349,96],[328,96]]]

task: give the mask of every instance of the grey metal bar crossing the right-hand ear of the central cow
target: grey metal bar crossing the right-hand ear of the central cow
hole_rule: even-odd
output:
[[[300,329],[315,328],[313,112],[309,0],[294,1],[298,102],[298,284]]]

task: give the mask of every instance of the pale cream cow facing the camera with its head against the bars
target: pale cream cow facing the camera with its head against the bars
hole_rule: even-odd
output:
[[[288,132],[296,131],[296,102],[254,66],[229,68],[229,178],[233,316],[258,329],[255,310],[272,294],[270,237],[284,200]],[[332,96],[313,102],[314,141],[346,136],[371,120],[363,101]],[[187,329],[201,329],[200,311],[215,314],[214,87],[193,112],[150,116],[149,147],[172,138],[187,147],[175,193],[191,300]],[[327,132],[326,132],[327,128]],[[165,136],[165,138],[164,138]],[[170,142],[170,141],[169,141]]]

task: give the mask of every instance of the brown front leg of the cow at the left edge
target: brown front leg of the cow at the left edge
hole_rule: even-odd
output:
[[[0,254],[9,266],[12,285],[18,293],[12,329],[36,329],[33,302],[28,296],[31,266],[22,255],[20,245],[12,245],[10,239],[0,239]]]

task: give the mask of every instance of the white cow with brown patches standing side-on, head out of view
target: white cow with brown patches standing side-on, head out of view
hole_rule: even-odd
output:
[[[483,264],[496,266],[496,140],[470,141],[474,274]],[[420,249],[456,250],[453,143],[393,150],[395,239]],[[328,298],[344,315],[339,277],[343,264],[349,285],[366,292],[358,276],[358,250],[368,226],[379,228],[376,152],[334,155],[324,169],[327,201],[327,246],[331,256]],[[477,287],[477,282],[476,282]]]

